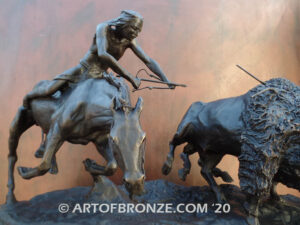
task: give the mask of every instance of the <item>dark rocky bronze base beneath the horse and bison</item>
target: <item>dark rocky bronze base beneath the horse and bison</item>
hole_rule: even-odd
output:
[[[0,207],[0,224],[5,225],[135,225],[135,224],[197,224],[197,225],[246,225],[246,212],[242,204],[245,195],[233,185],[221,185],[222,191],[231,206],[229,213],[216,213],[214,194],[205,187],[184,187],[165,180],[145,183],[147,193],[130,200],[122,186],[115,186],[107,178],[99,177],[98,182],[90,187],[76,187],[39,195],[30,201]],[[291,195],[282,196],[284,202],[264,202],[260,207],[261,225],[299,225],[300,199]],[[58,206],[67,203],[70,210],[76,203],[180,203],[207,204],[206,213],[60,213]],[[215,205],[213,205],[215,204]],[[174,208],[175,209],[175,208]],[[222,210],[221,210],[222,211]]]

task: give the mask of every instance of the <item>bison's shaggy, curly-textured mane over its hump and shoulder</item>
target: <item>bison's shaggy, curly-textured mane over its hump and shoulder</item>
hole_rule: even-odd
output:
[[[287,140],[300,133],[300,88],[287,79],[275,78],[251,89],[248,96],[242,113],[240,186],[249,194],[268,196],[273,177],[291,147]]]

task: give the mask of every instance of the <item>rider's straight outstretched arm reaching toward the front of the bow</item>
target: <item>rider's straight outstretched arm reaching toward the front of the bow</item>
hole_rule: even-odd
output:
[[[133,40],[131,42],[130,48],[132,49],[134,54],[139,57],[153,73],[159,76],[162,81],[169,82],[167,76],[164,74],[159,64],[154,59],[151,59],[146,55],[143,49],[137,44],[136,40]]]

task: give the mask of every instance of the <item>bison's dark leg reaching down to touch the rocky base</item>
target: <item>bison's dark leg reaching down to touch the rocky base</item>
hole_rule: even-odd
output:
[[[218,165],[221,161],[223,155],[214,154],[206,152],[200,155],[199,165],[201,166],[201,174],[207,183],[212,188],[213,192],[216,195],[217,201],[220,203],[225,202],[225,196],[221,192],[219,186],[217,185],[212,170]]]

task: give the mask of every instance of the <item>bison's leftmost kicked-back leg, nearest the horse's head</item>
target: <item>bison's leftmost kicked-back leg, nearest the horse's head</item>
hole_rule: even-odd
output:
[[[162,173],[164,175],[168,175],[171,172],[172,164],[174,161],[175,148],[178,145],[181,145],[188,141],[188,137],[193,133],[194,126],[192,123],[186,124],[182,129],[178,129],[176,134],[174,135],[172,141],[169,144],[170,151],[167,156],[167,160],[165,161],[162,167]]]

